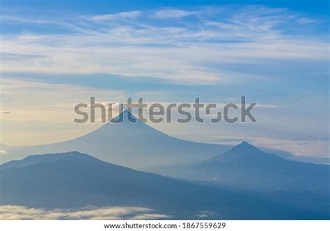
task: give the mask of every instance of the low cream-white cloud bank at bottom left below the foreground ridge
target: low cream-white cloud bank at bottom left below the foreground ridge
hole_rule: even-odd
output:
[[[42,209],[16,205],[0,206],[1,220],[56,220],[56,219],[166,219],[166,214],[158,214],[146,207],[85,207],[81,209]]]

